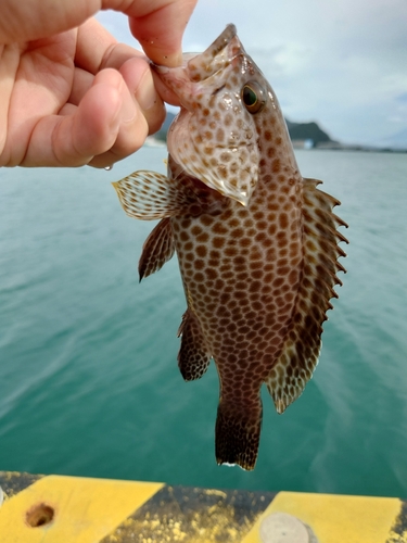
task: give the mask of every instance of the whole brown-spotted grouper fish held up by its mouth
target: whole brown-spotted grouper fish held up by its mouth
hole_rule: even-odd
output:
[[[318,363],[347,225],[321,181],[302,177],[277,97],[234,25],[181,66],[153,68],[180,102],[167,175],[138,171],[113,186],[127,215],[160,219],[140,280],[177,253],[187,302],[178,366],[192,381],[215,362],[217,464],[252,470],[263,384],[281,414]]]

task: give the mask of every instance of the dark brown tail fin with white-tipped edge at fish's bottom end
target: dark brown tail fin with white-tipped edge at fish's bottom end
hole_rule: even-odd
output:
[[[256,464],[260,439],[263,406],[257,402],[241,405],[220,399],[216,419],[216,462],[218,465],[238,464],[252,470]]]

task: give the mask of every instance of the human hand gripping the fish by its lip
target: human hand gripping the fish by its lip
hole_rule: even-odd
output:
[[[0,166],[105,167],[137,151],[165,118],[154,76],[89,17],[123,11],[150,59],[171,66],[195,1],[3,0]]]

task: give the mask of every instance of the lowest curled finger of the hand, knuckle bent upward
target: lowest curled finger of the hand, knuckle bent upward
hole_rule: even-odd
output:
[[[106,70],[73,114],[43,117],[37,124],[22,165],[80,166],[99,156],[98,165],[106,166],[137,151],[147,132],[144,116],[120,74]]]

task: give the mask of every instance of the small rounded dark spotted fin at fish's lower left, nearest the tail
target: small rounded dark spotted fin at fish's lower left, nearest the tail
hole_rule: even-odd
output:
[[[178,338],[180,336],[179,370],[186,381],[200,379],[209,366],[211,353],[202,333],[201,325],[191,308],[188,308],[182,315]]]

